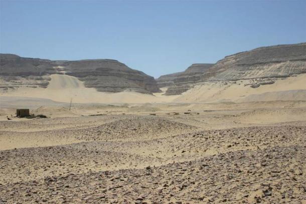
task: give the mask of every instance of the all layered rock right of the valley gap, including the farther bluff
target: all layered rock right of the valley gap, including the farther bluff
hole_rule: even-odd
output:
[[[249,79],[249,86],[257,88],[260,85],[272,84],[279,78],[306,73],[306,43],[261,47],[237,53],[204,70],[194,76],[195,81],[180,77],[187,73],[187,70],[161,76],[157,81],[159,87],[169,86],[167,95],[181,94],[195,83],[206,81]]]

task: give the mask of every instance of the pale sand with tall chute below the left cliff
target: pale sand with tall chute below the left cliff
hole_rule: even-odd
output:
[[[95,88],[86,88],[76,77],[68,75],[51,75],[47,88],[21,87],[17,90],[1,93],[0,96],[23,96],[46,98],[69,103],[147,103],[170,102],[177,96],[157,96],[137,92],[106,93]]]

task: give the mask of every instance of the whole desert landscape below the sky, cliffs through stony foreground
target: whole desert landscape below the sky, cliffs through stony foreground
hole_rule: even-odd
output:
[[[306,203],[306,43],[157,79],[0,58],[0,203]]]

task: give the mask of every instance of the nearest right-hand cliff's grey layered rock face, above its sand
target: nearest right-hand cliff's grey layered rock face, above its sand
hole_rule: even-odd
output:
[[[306,73],[305,63],[306,43],[261,47],[218,61],[211,80],[288,77]]]

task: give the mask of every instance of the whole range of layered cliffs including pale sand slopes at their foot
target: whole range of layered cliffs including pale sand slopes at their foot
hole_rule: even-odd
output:
[[[156,80],[116,60],[51,61],[12,54],[0,54],[0,60],[1,97],[66,103],[306,100],[306,43],[236,53]]]

